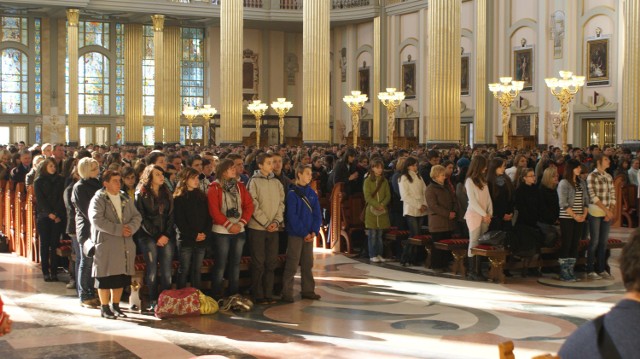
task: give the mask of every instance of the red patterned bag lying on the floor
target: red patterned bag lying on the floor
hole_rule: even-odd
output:
[[[196,288],[167,289],[160,293],[155,314],[157,318],[200,315],[200,297]]]

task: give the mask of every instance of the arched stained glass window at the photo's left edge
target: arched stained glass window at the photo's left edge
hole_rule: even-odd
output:
[[[0,101],[3,113],[29,111],[29,61],[18,49],[4,49],[0,53]]]

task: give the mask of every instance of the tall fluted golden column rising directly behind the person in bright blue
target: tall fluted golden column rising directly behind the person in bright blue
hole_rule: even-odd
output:
[[[330,12],[330,1],[307,0],[304,3],[302,139],[305,144],[327,144],[331,139],[329,128]]]

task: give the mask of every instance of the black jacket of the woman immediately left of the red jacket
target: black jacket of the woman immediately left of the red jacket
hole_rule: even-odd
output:
[[[198,191],[198,193],[195,193]],[[173,199],[174,218],[180,245],[204,247],[206,241],[196,242],[198,233],[211,232],[211,216],[207,196],[199,190],[188,191]]]

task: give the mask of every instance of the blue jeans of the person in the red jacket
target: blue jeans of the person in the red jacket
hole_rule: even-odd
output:
[[[224,296],[222,278],[227,265],[229,266],[227,268],[227,280],[229,281],[227,293],[233,295],[239,292],[240,259],[245,241],[244,232],[236,234],[214,233],[213,256],[215,263],[211,272],[211,289],[214,298],[218,299]]]

